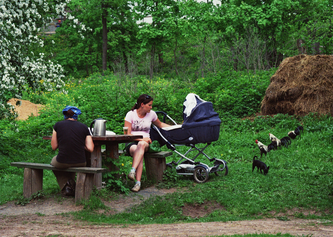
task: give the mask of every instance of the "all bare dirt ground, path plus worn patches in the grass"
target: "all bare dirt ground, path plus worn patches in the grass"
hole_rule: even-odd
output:
[[[111,207],[109,214],[126,211],[140,204],[152,195],[164,195],[176,189],[158,190],[145,188],[138,194],[120,195],[117,200],[105,202]],[[205,204],[207,205],[207,204]],[[75,205],[73,198],[55,196],[40,201],[31,201],[25,206],[14,202],[0,206],[0,236],[213,236],[247,233],[289,233],[291,235],[332,236],[333,226],[325,220],[303,220],[288,217],[288,221],[261,219],[251,221],[175,223],[150,225],[92,225],[74,220],[67,212],[79,211],[83,207]],[[186,207],[183,213],[188,216],[203,216],[207,211],[200,207]],[[221,206],[217,208],[223,209]],[[104,210],[103,210],[104,212]],[[60,214],[61,215],[57,215]]]

